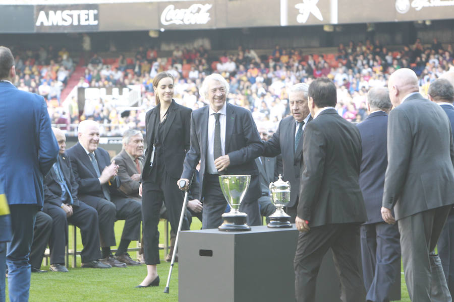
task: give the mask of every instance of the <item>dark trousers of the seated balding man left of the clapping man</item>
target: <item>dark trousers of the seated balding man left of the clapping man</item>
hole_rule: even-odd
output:
[[[52,233],[49,240],[50,264],[65,263],[65,246],[68,244],[68,223],[80,229],[83,249],[80,253],[82,263],[101,258],[99,252],[98,213],[91,206],[80,201],[73,206],[73,214],[66,212],[53,203],[44,203],[44,212],[52,217]]]

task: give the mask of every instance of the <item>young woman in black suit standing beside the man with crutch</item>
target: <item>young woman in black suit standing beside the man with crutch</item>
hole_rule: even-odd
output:
[[[153,79],[156,107],[146,114],[147,150],[142,172],[143,246],[147,276],[137,287],[158,286],[156,264],[159,263],[159,210],[167,208],[172,229],[178,229],[183,193],[176,185],[183,171],[183,161],[190,145],[192,110],[172,99],[174,77],[160,72]],[[140,192],[139,192],[140,193]],[[186,220],[186,219],[185,219]],[[184,221],[182,230],[189,230]]]

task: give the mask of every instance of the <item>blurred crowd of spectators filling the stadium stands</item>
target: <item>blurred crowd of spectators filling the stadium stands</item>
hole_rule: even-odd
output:
[[[367,116],[367,91],[385,86],[394,70],[401,67],[415,70],[425,93],[440,74],[454,69],[453,55],[452,46],[443,47],[436,38],[427,45],[417,39],[415,44],[394,51],[378,40],[374,43],[367,40],[339,44],[335,53],[302,54],[299,49],[283,49],[279,45],[260,56],[242,46],[220,56],[210,54],[203,46],[193,49],[177,46],[167,57],[160,56],[156,48],[144,47],[139,47],[133,57],[120,54],[118,58],[101,58],[95,53],[77,86],[138,85],[142,101],[137,110],[120,112],[116,104],[103,99],[87,100],[85,108],[78,108],[73,98],[65,104],[52,102],[49,113],[55,124],[94,119],[106,125],[104,134],[119,135],[128,128],[144,129],[145,113],[155,106],[153,77],[167,70],[176,79],[176,101],[192,109],[206,104],[199,95],[204,77],[212,72],[221,73],[231,85],[228,101],[250,109],[256,123],[270,130],[290,114],[289,87],[328,77],[338,89],[338,113],[349,121],[360,122]],[[21,71],[15,83],[20,89],[59,101],[59,92],[73,70],[73,63],[65,49],[56,52],[51,47],[48,50],[41,47],[35,54],[26,52],[18,57],[16,69]]]

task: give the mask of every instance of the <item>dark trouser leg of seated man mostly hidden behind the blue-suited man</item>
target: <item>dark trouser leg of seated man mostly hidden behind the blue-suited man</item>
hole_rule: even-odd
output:
[[[29,257],[29,263],[32,267],[41,268],[42,257],[44,256],[51,232],[52,218],[41,211],[36,213],[35,226],[33,228],[33,243]]]

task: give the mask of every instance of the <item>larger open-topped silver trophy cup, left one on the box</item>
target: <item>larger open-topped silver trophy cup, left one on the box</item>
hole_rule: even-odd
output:
[[[251,182],[250,175],[219,175],[219,185],[225,199],[230,205],[230,212],[223,213],[223,222],[217,228],[219,231],[250,231],[246,223],[248,214],[240,212],[240,204]]]

